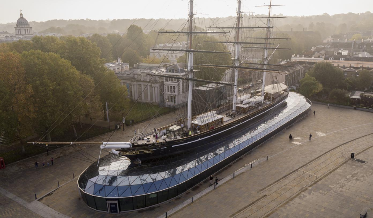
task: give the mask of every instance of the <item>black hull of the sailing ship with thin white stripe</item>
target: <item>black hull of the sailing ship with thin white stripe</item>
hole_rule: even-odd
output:
[[[276,109],[286,105],[286,97],[287,95],[271,105],[267,105],[254,113],[242,116],[242,118],[236,119],[229,124],[219,126],[215,129],[201,132],[200,134],[192,135],[186,138],[181,138],[179,140],[166,141],[158,144],[147,144],[145,146],[148,149],[145,150],[144,145],[133,145],[132,152],[128,152],[128,154],[126,154],[127,152],[124,151],[122,155],[128,157],[132,161],[137,159],[144,161],[173,156],[180,153],[187,153],[189,151],[198,152],[209,149],[216,144],[214,142],[219,142],[226,137],[234,135],[236,132],[249,129],[250,126],[275,112]],[[137,146],[141,151],[136,151]]]

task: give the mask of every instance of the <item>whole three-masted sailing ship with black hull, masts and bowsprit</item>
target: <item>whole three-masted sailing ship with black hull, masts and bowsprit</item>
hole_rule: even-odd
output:
[[[242,13],[241,0],[237,0],[237,12],[235,26],[232,27],[209,27],[207,29],[232,29],[234,31],[233,41],[204,41],[204,43],[224,43],[233,45],[233,65],[217,65],[217,64],[199,64],[198,67],[212,67],[212,68],[226,68],[233,74],[233,83],[226,81],[209,81],[201,80],[194,77],[194,54],[213,53],[213,54],[232,54],[232,52],[225,51],[205,51],[193,48],[193,39],[195,35],[199,34],[224,34],[227,33],[217,31],[196,31],[194,26],[193,2],[189,0],[189,19],[187,31],[158,31],[159,34],[186,34],[188,36],[187,49],[172,49],[172,48],[157,48],[154,50],[163,51],[182,51],[186,52],[188,57],[188,64],[186,68],[187,76],[166,76],[169,78],[176,78],[179,80],[186,80],[188,82],[188,101],[187,101],[187,117],[179,119],[173,124],[163,126],[162,128],[152,129],[149,132],[139,132],[129,142],[31,142],[38,144],[76,144],[76,145],[90,145],[99,144],[101,151],[103,149],[111,150],[110,152],[119,156],[126,156],[131,161],[153,160],[155,158],[167,158],[177,155],[179,153],[207,150],[212,147],[217,141],[224,140],[226,137],[232,137],[238,131],[244,131],[250,128],[251,125],[275,112],[276,109],[283,107],[286,104],[288,90],[283,84],[270,84],[265,86],[268,75],[271,73],[279,73],[279,70],[270,69],[269,66],[276,66],[276,64],[269,64],[272,55],[270,51],[276,51],[277,47],[271,47],[273,40],[286,39],[275,38],[272,36],[271,26],[271,7],[272,4],[265,5],[269,7],[267,17],[251,17],[251,19],[265,18],[264,26],[243,26],[241,25]],[[272,1],[271,1],[272,3]],[[248,39],[260,39],[261,42],[243,41],[240,37],[241,31],[247,29],[265,30],[265,37],[246,37]],[[242,45],[252,45],[255,47],[242,47]],[[263,47],[257,47],[261,45]],[[240,52],[244,48],[260,49],[263,51],[261,63],[247,63],[248,58],[243,61]],[[273,54],[273,53],[272,53]],[[262,73],[261,89],[251,90],[248,94],[238,93],[239,88],[238,76],[239,70],[244,72]],[[151,76],[157,76],[150,74]],[[232,87],[232,98],[220,108],[209,110],[202,114],[192,116],[192,91],[194,83],[209,83],[216,85],[225,85]],[[250,85],[248,86],[250,87]],[[101,152],[100,152],[101,155]]]

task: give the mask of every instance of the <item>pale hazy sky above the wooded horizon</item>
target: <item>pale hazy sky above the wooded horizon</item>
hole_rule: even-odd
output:
[[[348,3],[347,3],[348,2]],[[267,13],[257,5],[268,4],[269,0],[242,0],[243,10]],[[235,16],[236,0],[194,0],[195,13],[206,17]],[[272,0],[276,7],[273,13],[284,15],[319,15],[328,13],[359,13],[371,10],[373,0]],[[0,23],[16,22],[22,9],[28,21],[52,19],[133,19],[133,18],[185,18],[188,0],[18,0],[2,1]]]

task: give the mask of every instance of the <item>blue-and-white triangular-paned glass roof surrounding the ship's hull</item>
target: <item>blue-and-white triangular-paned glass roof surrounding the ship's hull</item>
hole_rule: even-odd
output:
[[[131,197],[169,189],[242,150],[311,106],[305,97],[294,92],[289,92],[286,102],[285,107],[241,135],[225,139],[198,154],[181,154],[172,163],[162,160],[151,166],[138,167],[126,157],[107,155],[101,158],[98,166],[96,162],[81,174],[78,186],[85,193],[106,198]]]

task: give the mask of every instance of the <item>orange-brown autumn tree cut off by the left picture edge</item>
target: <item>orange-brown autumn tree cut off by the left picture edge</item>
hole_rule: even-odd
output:
[[[23,139],[33,134],[33,94],[31,85],[26,83],[20,55],[0,53],[0,132],[5,138]]]

